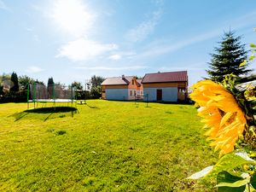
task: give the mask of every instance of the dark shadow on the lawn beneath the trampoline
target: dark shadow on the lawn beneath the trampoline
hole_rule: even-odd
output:
[[[74,113],[79,113],[77,108],[71,107],[56,107],[56,108],[34,108],[28,109],[20,113],[14,113],[15,121],[20,119],[55,119],[64,117],[73,117]]]

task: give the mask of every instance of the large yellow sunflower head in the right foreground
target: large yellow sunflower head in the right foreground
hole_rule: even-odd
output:
[[[210,128],[206,136],[211,146],[219,150],[219,157],[230,153],[247,123],[236,99],[223,85],[211,80],[202,80],[191,89],[190,97],[200,106],[198,114],[204,118],[204,128]]]

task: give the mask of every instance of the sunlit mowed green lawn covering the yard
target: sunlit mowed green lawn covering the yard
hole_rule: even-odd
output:
[[[0,104],[0,191],[212,191],[185,179],[218,160],[193,106],[87,103]]]

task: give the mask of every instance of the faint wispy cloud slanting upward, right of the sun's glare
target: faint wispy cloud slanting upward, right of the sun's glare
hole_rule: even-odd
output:
[[[161,11],[155,11],[153,13],[153,18],[150,20],[144,20],[135,28],[131,29],[126,33],[126,38],[131,42],[140,42],[148,37],[152,32],[154,32],[155,26],[158,24],[160,20]]]

